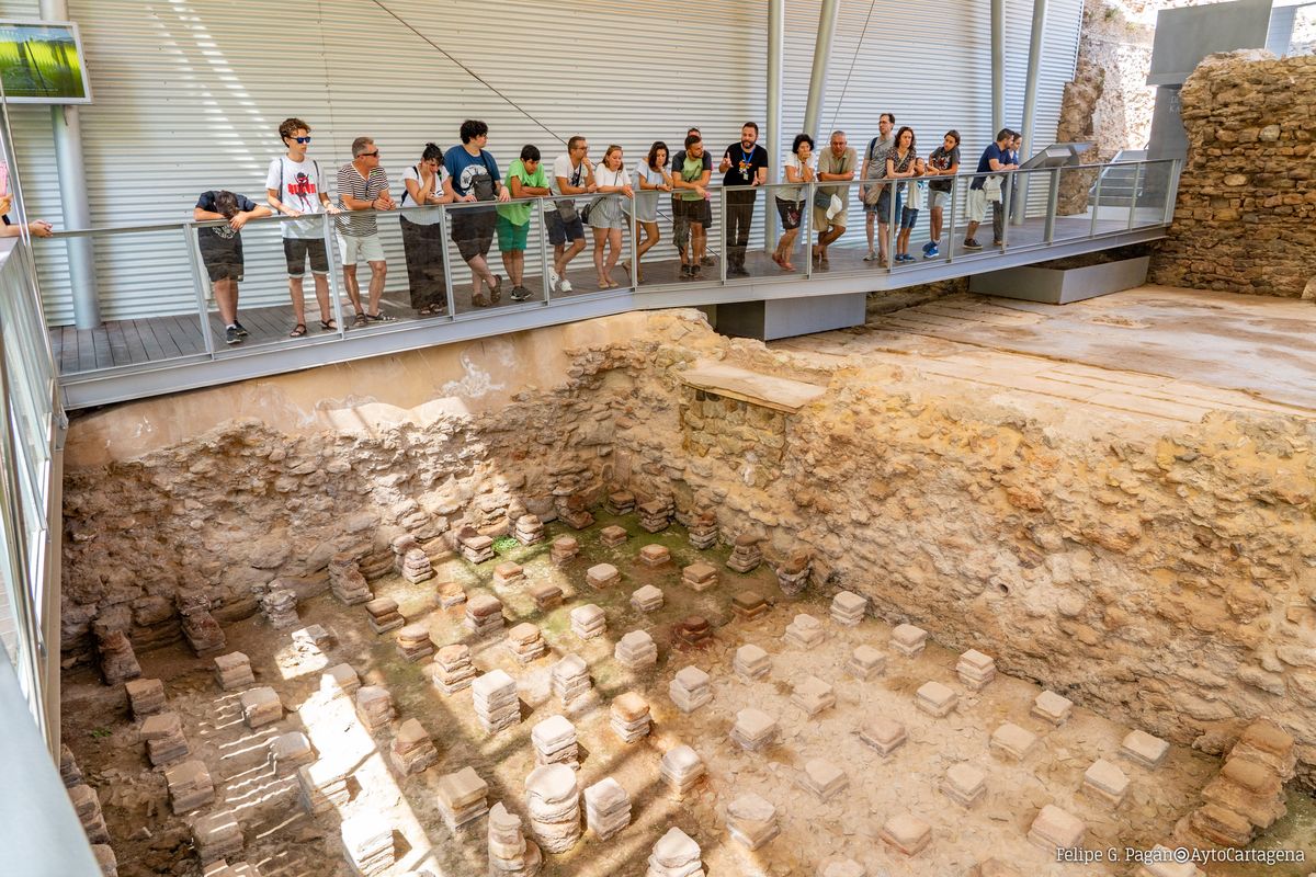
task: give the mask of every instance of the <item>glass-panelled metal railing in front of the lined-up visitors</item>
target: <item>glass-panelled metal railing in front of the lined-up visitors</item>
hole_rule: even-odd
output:
[[[1115,210],[1088,204],[1086,209],[1073,214],[1061,213],[1063,206],[1061,189],[1067,181],[1071,181],[1070,175],[1078,175],[1080,180],[1086,179],[1084,175],[1092,175],[1098,179],[1099,185],[1099,175],[1112,167],[1121,168],[1124,172],[1132,170],[1136,179],[1141,180],[1141,185],[1136,189],[1138,196],[1132,199],[1126,208]],[[1033,199],[1029,205],[1032,216],[1024,225],[1003,224],[999,246],[971,251],[963,247],[963,231],[970,221],[970,200],[971,192],[976,188],[975,181],[986,176],[1001,179],[1000,212],[1003,217],[1008,217],[1009,202],[1016,197],[1015,193],[1023,191],[1024,187],[1019,184],[1024,181],[1024,178],[1036,180],[1033,191],[1045,192],[1046,197]],[[432,273],[442,273],[442,302],[436,305],[436,310],[440,313],[429,314],[425,312],[425,316],[420,318],[430,323],[436,321],[459,323],[483,320],[494,313],[507,314],[557,308],[566,300],[580,302],[659,291],[675,295],[678,289],[691,289],[691,280],[704,288],[730,289],[737,285],[766,281],[804,283],[826,272],[829,277],[884,273],[888,275],[887,283],[907,279],[908,284],[915,284],[920,283],[920,273],[930,273],[928,266],[941,268],[941,276],[945,276],[946,266],[951,263],[971,262],[961,273],[974,271],[974,266],[979,263],[983,270],[987,270],[994,258],[1005,254],[1036,254],[1037,260],[1041,260],[1046,258],[1044,251],[1057,243],[1117,238],[1121,233],[1130,230],[1167,225],[1173,212],[1177,176],[1178,160],[1161,159],[1034,168],[995,175],[969,171],[955,176],[942,175],[884,181],[711,187],[708,199],[701,205],[697,200],[690,202],[674,199],[670,216],[667,201],[671,196],[659,193],[657,200],[661,209],[653,229],[645,229],[644,225],[637,229],[629,201],[626,202],[626,216],[630,218],[622,222],[621,245],[616,258],[609,252],[616,237],[607,230],[594,229],[590,224],[584,224],[586,243],[583,251],[570,262],[565,272],[561,270],[562,254],[570,251],[572,242],[566,242],[565,246],[559,247],[550,239],[550,235],[555,235],[561,225],[555,220],[555,216],[559,216],[558,208],[574,202],[578,209],[583,209],[587,204],[595,202],[597,196],[576,196],[574,199],[549,196],[517,199],[505,205],[492,202],[445,204],[358,213],[375,216],[384,250],[390,254],[387,258],[390,267],[384,277],[384,297],[391,302],[393,316],[397,316],[396,302],[399,298],[407,297],[411,297],[412,310],[416,310],[417,316],[422,313],[416,306],[421,301],[417,297],[416,284],[408,275],[418,276],[412,271],[415,266],[411,264],[411,260],[424,258],[428,259]],[[944,233],[940,249],[930,255],[928,250],[923,249],[923,245],[929,241],[929,234],[928,221],[920,216],[916,227],[908,235],[909,246],[917,247],[909,252],[911,258],[899,262],[888,260],[886,264],[863,259],[867,249],[869,222],[871,221],[874,225],[874,249],[880,249],[880,242],[876,239],[879,230],[886,231],[890,249],[891,239],[899,234],[901,220],[898,213],[898,199],[883,200],[886,216],[878,217],[875,214],[876,205],[866,204],[866,195],[869,200],[873,200],[871,191],[876,185],[899,185],[905,195],[909,195],[915,192],[912,187],[919,187],[932,179],[950,184],[949,202],[941,206]],[[765,251],[767,229],[770,222],[776,222],[779,217],[797,217],[795,247],[808,246],[812,249],[815,246],[819,222],[826,221],[825,212],[815,208],[815,197],[822,188],[836,191],[842,196],[841,201],[844,202],[840,221],[845,224],[845,233],[836,243],[830,245],[832,258],[822,262],[809,258],[808,252],[796,256],[795,250],[780,262],[770,258]],[[1087,197],[1086,185],[1067,188],[1079,192],[1079,200]],[[758,196],[759,189],[762,189],[762,197]],[[625,201],[625,199],[622,200]],[[791,206],[792,204],[794,206]],[[524,250],[509,251],[520,252],[517,256],[509,256],[509,252],[503,250],[495,230],[500,209],[512,205],[530,206],[528,222],[517,231],[517,235],[524,234]],[[928,206],[924,206],[924,213],[930,212]],[[700,213],[701,217],[697,216]],[[988,205],[986,213],[984,226],[991,222],[994,208]],[[480,214],[484,214],[483,218],[478,218]],[[428,254],[417,254],[415,239],[408,241],[400,230],[400,222],[396,217],[405,217],[412,224],[428,225],[432,230],[426,233],[425,241],[428,243],[424,246],[434,247],[434,250]],[[288,222],[307,224],[308,220],[316,224],[316,241],[322,242],[328,260],[328,276],[324,280],[328,285],[328,298],[321,313],[324,326],[321,327],[320,323],[307,317],[305,322],[311,331],[305,337],[288,338],[287,330],[292,327],[293,321],[287,318],[290,287],[282,230]],[[133,321],[125,320],[112,323],[112,326],[117,325],[117,334],[113,330],[107,330],[109,338],[105,342],[105,350],[97,347],[88,352],[84,343],[82,351],[71,354],[67,344],[61,344],[58,356],[61,373],[64,376],[86,372],[96,375],[126,373],[158,368],[162,363],[197,363],[245,356],[255,350],[267,348],[270,344],[283,347],[322,344],[341,342],[349,333],[358,337],[362,333],[388,334],[405,329],[408,323],[413,322],[413,318],[407,314],[400,322],[366,321],[361,323],[358,321],[354,326],[349,325],[353,322],[354,314],[345,310],[342,304],[343,266],[337,246],[334,222],[333,217],[321,213],[301,220],[255,218],[246,224],[242,230],[246,275],[242,283],[241,306],[250,309],[254,305],[262,312],[262,329],[251,331],[250,337],[233,347],[220,343],[224,326],[212,320],[213,304],[209,301],[212,284],[208,277],[207,258],[199,243],[199,233],[222,226],[222,222],[179,221],[101,227],[59,233],[51,239],[36,242],[39,252],[42,247],[62,246],[63,241],[79,237],[113,238],[113,246],[97,249],[97,252],[107,254],[101,259],[103,276],[99,285],[101,289],[111,291],[109,295],[103,295],[101,312],[112,318],[118,313],[125,313],[122,298],[116,301],[114,295],[132,298],[141,289],[143,296],[147,293],[157,297],[161,295],[171,296],[157,306],[161,320],[149,326],[149,331],[139,323],[151,323],[150,320],[138,318],[130,329],[128,323]],[[837,222],[837,218],[833,217],[829,225],[832,222]],[[437,231],[433,230],[434,226],[437,226]],[[749,229],[747,234],[746,227]],[[463,233],[471,229],[476,229],[472,234],[478,241],[475,250],[467,249],[466,255],[474,254],[474,256],[487,258],[490,271],[500,277],[516,280],[519,275],[520,285],[524,287],[519,292],[519,300],[513,300],[508,295],[512,283],[504,283],[504,288],[499,291],[501,295],[499,301],[490,300],[492,296],[488,295],[487,285],[483,297],[475,295],[472,264],[478,267],[478,258],[472,258],[471,262],[463,259],[462,246],[465,242],[458,245],[453,234],[454,230]],[[682,241],[675,239],[678,235],[683,237],[683,241],[692,242],[694,238],[690,237],[692,230],[697,230],[707,238],[711,254],[711,258],[697,267],[690,266],[692,259],[688,255],[688,249],[692,249],[692,243],[686,243],[686,256],[679,256],[679,249],[676,251],[665,249],[670,243],[682,243]],[[650,231],[657,233],[654,243],[649,242]],[[728,239],[728,231],[734,239]],[[646,242],[646,251],[642,256],[640,255],[640,237],[644,237]],[[595,254],[600,254],[599,262],[595,262]],[[655,256],[655,254],[659,255]],[[782,254],[776,251],[775,255]],[[803,262],[799,260],[800,258]],[[682,268],[682,259],[692,270]],[[612,272],[608,271],[609,263],[615,263]],[[516,271],[517,275],[511,275],[509,270]],[[358,266],[357,273],[362,295],[365,295],[366,275],[370,273],[370,270],[367,266]],[[591,273],[595,276],[591,277]],[[563,280],[566,280],[566,285],[562,283]],[[168,291],[176,292],[178,287],[187,281],[191,285],[191,295],[187,296],[186,304],[182,304],[179,297]],[[161,292],[162,289],[164,293]],[[667,295],[666,298],[670,300],[671,295]],[[776,295],[788,295],[788,292],[780,291]],[[301,291],[301,296],[304,301],[305,289]],[[696,296],[691,296],[691,304],[696,304]],[[253,312],[242,310],[241,313],[245,320],[246,314]],[[168,325],[162,327],[162,322],[168,322]],[[63,331],[72,333],[72,330]],[[328,359],[332,356],[326,356]]]

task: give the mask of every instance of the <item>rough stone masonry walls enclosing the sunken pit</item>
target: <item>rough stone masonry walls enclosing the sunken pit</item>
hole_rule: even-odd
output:
[[[64,486],[66,660],[89,656],[97,618],[139,647],[176,636],[178,592],[233,618],[275,576],[322,588],[336,551],[496,533],[509,506],[551,517],[554,492],[619,484],[715,513],[724,540],[762,536],[772,563],[808,552],[812,586],[1157,735],[1220,753],[1269,715],[1316,784],[1316,425],[1076,435],[909,369],[817,371],[696,312],[621,320],[625,337],[595,321],[541,338],[565,354],[557,377],[482,413],[318,433],[243,419],[88,455]],[[699,359],[826,393],[788,414],[696,392],[682,372]],[[114,458],[79,429],[75,459]]]

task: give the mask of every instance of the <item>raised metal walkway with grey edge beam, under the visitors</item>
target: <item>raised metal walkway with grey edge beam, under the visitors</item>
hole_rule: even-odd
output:
[[[1140,166],[1136,172],[1141,170]],[[1173,168],[1167,166],[1166,170]],[[532,239],[528,250],[525,285],[534,291],[529,301],[511,302],[504,297],[500,305],[474,308],[470,304],[470,284],[465,277],[453,277],[450,273],[449,309],[442,316],[416,317],[409,302],[403,300],[405,289],[401,293],[390,289],[384,296],[384,309],[397,316],[397,322],[324,331],[318,326],[318,312],[312,297],[307,308],[311,334],[293,339],[287,337],[293,322],[288,304],[242,306],[240,320],[250,335],[242,344],[232,347],[225,346],[222,322],[213,310],[213,304],[205,300],[205,288],[200,283],[203,276],[200,259],[193,254],[196,308],[192,313],[108,321],[91,330],[57,326],[50,330],[51,348],[59,363],[64,405],[68,409],[78,409],[629,310],[880,293],[1141,243],[1165,235],[1173,197],[1166,199],[1161,195],[1155,204],[1130,204],[1117,210],[1100,208],[1096,213],[1090,209],[1079,216],[1055,216],[1055,188],[1059,179],[1054,171],[1045,174],[1049,175],[1051,188],[1046,204],[1049,216],[1007,226],[1004,247],[988,247],[980,251],[959,249],[963,237],[961,218],[949,224],[950,227],[944,231],[942,252],[938,258],[880,267],[878,263],[865,262],[867,246],[863,220],[855,222],[855,212],[851,212],[846,234],[832,245],[829,268],[825,271],[809,263],[807,250],[800,249],[797,242],[796,255],[792,256],[796,271],[786,272],[770,259],[759,241],[757,249],[751,246],[745,263],[750,273],[747,277],[726,277],[725,262],[719,258],[713,267],[704,268],[704,276],[682,279],[679,262],[671,258],[674,250],[670,246],[670,237],[665,235],[658,247],[642,262],[642,283],[634,284],[630,273],[619,266],[611,279],[621,285],[600,289],[587,247],[571,266],[570,279],[574,291],[563,295],[550,292],[544,283],[549,256],[546,242],[542,242],[540,235],[540,258],[534,254],[536,241]],[[962,179],[965,185],[971,176],[965,175]],[[757,227],[763,225],[763,209],[770,200],[770,197],[759,199]],[[851,204],[851,210],[854,206]],[[715,212],[720,213],[720,205]],[[805,214],[808,213],[805,210]],[[962,210],[948,210],[948,213],[955,216],[962,214]],[[721,249],[719,218],[720,216],[715,217],[715,227],[708,233],[711,250]],[[274,221],[267,222],[272,225]],[[805,226],[808,225],[805,221]],[[926,222],[920,225],[925,227]],[[807,227],[801,229],[805,230]],[[988,214],[978,237],[990,241],[990,235]],[[195,239],[195,234],[191,237]],[[632,254],[629,235],[626,237],[628,254]],[[921,239],[926,239],[926,235],[924,234]],[[449,264],[465,268],[457,260],[455,250],[451,246],[449,250]],[[911,251],[919,254],[919,238],[911,245]],[[662,255],[655,256],[659,252]],[[250,263],[250,245],[247,258]],[[336,273],[337,271],[333,271],[330,276]],[[361,266],[361,273],[362,280],[367,280],[366,266]],[[392,276],[397,275],[403,275],[405,287],[405,271],[401,271],[400,266],[393,267]],[[309,279],[305,285],[309,291],[312,285]],[[351,321],[351,312],[345,310],[346,302],[337,304],[341,295],[338,285],[340,279],[334,277],[332,298],[338,325],[345,326]]]

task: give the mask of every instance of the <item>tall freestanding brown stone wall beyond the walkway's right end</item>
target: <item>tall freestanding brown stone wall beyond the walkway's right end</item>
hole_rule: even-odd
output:
[[[1188,158],[1152,280],[1267,296],[1316,293],[1316,58],[1212,55],[1184,83],[1182,103]]]

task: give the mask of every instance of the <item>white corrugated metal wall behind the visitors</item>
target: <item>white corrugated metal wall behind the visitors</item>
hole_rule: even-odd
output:
[[[1005,5],[1007,110],[1017,124],[1032,3]],[[36,17],[36,0],[0,1],[8,17]],[[607,143],[620,143],[629,166],[657,138],[675,146],[691,124],[720,154],[744,120],[762,122],[765,4],[704,0],[688,24],[670,5],[619,8],[611,0],[504,0],[496,7],[474,0],[71,0],[96,100],[82,110],[93,222],[186,218],[208,188],[263,200],[265,168],[280,151],[275,129],[286,116],[312,124],[312,155],[329,176],[350,158],[354,137],[374,137],[395,192],[425,141],[446,149],[463,118],[490,122],[490,149],[504,170],[522,143],[537,143],[551,159],[562,151],[555,138],[576,133],[591,138],[596,158]],[[817,12],[817,0],[787,0],[788,131],[804,116]],[[1082,0],[1050,3],[1040,143],[1055,130],[1080,13]],[[988,34],[986,0],[954,7],[842,0],[822,128],[848,130],[862,150],[876,133],[878,113],[891,110],[915,128],[921,151],[957,128],[966,160],[976,158],[991,138]],[[17,107],[11,117],[32,212],[58,226],[50,113]],[[386,241],[390,258],[396,256],[390,288],[399,288],[405,272],[396,230],[391,222],[382,226],[392,233]],[[265,281],[246,284],[243,302],[280,304],[286,289],[272,230],[246,237],[249,280]],[[107,318],[192,309],[176,241],[174,233],[99,245]],[[47,317],[71,322],[63,246],[41,250]]]

